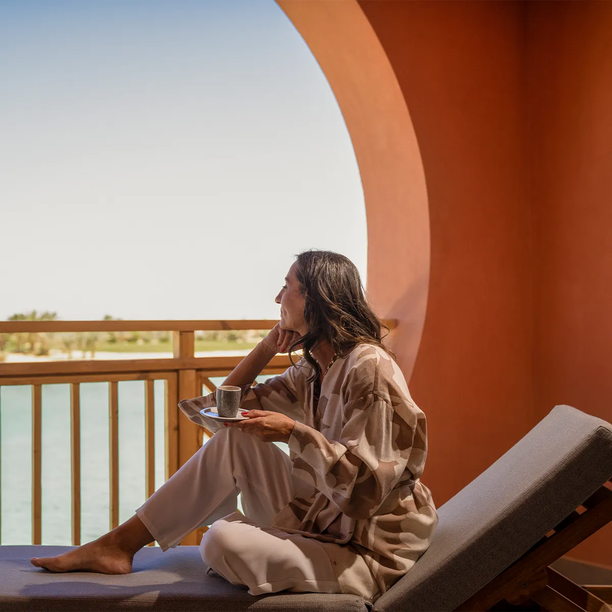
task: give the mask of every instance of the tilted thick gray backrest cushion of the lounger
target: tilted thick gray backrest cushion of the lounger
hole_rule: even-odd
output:
[[[611,477],[612,425],[555,406],[438,509],[430,547],[374,610],[454,610]]]

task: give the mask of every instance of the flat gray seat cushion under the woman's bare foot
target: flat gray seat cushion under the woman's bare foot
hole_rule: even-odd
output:
[[[196,546],[146,547],[134,558],[133,573],[57,574],[30,564],[31,557],[70,550],[60,546],[0,546],[0,610],[302,610],[367,612],[357,595],[290,593],[254,597],[247,587],[206,574]]]

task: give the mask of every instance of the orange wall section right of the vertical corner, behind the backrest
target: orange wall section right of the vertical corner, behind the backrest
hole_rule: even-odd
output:
[[[612,422],[612,3],[533,2],[535,404]],[[570,556],[612,566],[612,526]]]

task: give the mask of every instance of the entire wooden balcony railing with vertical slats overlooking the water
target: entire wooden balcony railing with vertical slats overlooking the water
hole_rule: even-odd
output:
[[[227,376],[244,356],[195,357],[196,330],[266,330],[277,321],[2,321],[0,334],[59,332],[149,332],[173,334],[170,359],[76,359],[0,363],[0,386],[32,386],[32,543],[42,541],[42,385],[70,385],[70,457],[72,544],[81,543],[81,429],[80,384],[104,382],[109,386],[109,527],[119,524],[119,401],[118,383],[141,380],[144,383],[144,436],[146,498],[155,490],[154,381],[165,381],[165,478],[166,480],[192,457],[212,433],[179,419],[180,400],[215,390],[211,378]],[[392,327],[394,321],[385,321]],[[263,375],[282,373],[291,365],[288,356],[277,355],[262,371]],[[1,407],[0,407],[1,409]],[[1,444],[1,436],[0,436]],[[0,488],[1,490],[1,488]],[[0,521],[1,496],[0,496]],[[1,524],[1,523],[0,523]],[[202,530],[196,530],[182,544],[198,543]]]

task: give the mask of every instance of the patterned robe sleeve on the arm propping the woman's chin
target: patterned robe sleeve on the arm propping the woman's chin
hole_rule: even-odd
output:
[[[304,421],[303,408],[303,383],[302,361],[292,365],[278,376],[268,378],[264,383],[252,383],[240,385],[242,397],[239,411],[246,410],[269,410],[281,412],[296,421]],[[179,408],[187,418],[198,425],[203,425],[207,430],[218,431],[223,427],[222,421],[207,419],[200,414],[203,408],[212,408],[217,405],[217,395],[212,392],[209,395],[194,397],[190,400],[179,401]]]

